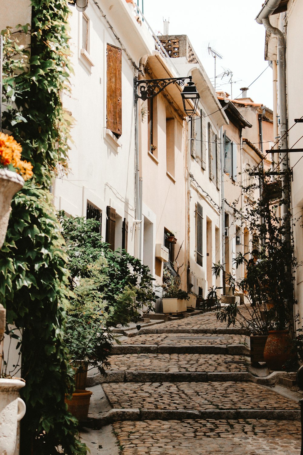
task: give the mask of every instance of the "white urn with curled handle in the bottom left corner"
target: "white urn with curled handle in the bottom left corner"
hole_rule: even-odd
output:
[[[0,379],[0,454],[13,455],[16,449],[17,422],[25,415],[25,402],[19,390],[25,382]]]

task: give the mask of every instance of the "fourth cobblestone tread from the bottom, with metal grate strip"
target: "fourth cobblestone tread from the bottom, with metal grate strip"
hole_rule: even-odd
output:
[[[157,344],[167,346],[174,346],[176,344],[182,346],[227,345],[245,344],[245,335],[146,334],[136,335],[134,337],[120,337],[119,341],[122,344]]]

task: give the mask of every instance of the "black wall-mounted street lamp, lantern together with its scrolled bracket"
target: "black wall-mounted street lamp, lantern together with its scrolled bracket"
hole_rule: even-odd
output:
[[[189,79],[189,83],[184,86],[186,79]],[[154,98],[161,91],[163,91],[170,84],[176,83],[179,86],[184,86],[183,92],[181,93],[184,111],[186,115],[192,117],[198,106],[198,101],[200,95],[198,93],[197,87],[192,82],[192,76],[187,77],[170,77],[165,79],[145,79],[143,81],[134,80],[134,90],[135,90],[135,101],[139,99],[142,101],[147,100],[148,98]],[[138,93],[139,88],[139,93]],[[193,107],[190,107],[189,103],[186,101],[192,101],[194,104]]]

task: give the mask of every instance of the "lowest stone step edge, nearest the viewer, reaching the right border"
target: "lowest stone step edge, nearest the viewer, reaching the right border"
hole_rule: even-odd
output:
[[[301,420],[300,410],[154,410],[154,409],[111,409],[100,414],[89,414],[86,427],[100,429],[105,425],[125,420],[197,420],[197,419],[264,419]]]

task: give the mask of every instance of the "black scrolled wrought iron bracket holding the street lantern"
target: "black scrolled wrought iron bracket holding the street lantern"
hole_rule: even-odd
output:
[[[134,81],[135,100],[141,99],[143,101],[148,98],[154,98],[161,91],[163,91],[170,84],[176,83],[179,86],[184,86],[186,79],[191,82],[192,76],[187,77],[170,77],[166,79],[146,79],[144,81]],[[139,87],[139,94],[138,94]]]

